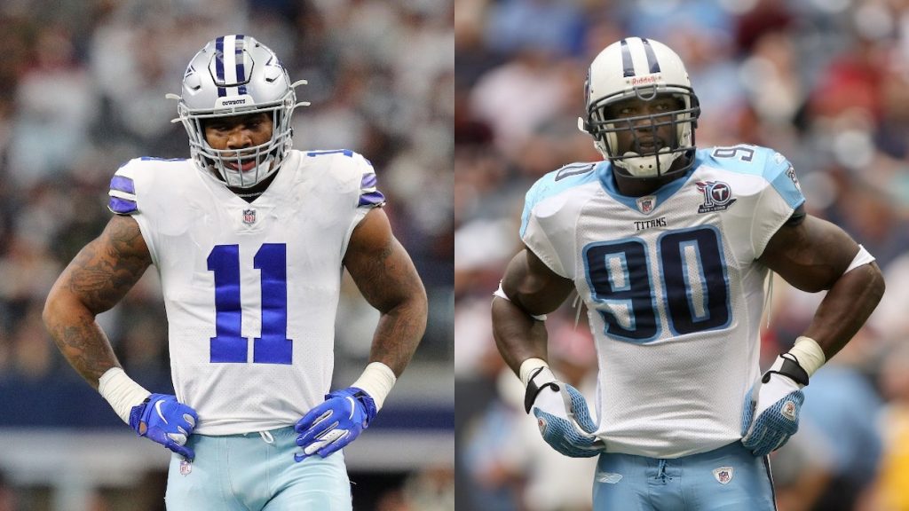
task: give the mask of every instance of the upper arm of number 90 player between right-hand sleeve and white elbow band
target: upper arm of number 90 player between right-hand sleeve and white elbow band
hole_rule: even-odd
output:
[[[789,284],[808,292],[829,289],[858,253],[840,227],[812,215],[776,231],[759,260]]]

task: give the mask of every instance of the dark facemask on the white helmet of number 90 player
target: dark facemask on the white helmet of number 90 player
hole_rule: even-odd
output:
[[[671,96],[673,110],[649,115],[607,115],[609,107],[636,98],[649,103]],[[700,115],[697,96],[689,87],[634,87],[628,93],[606,96],[588,106],[585,130],[594,146],[625,174],[653,178],[684,173],[694,164],[694,127]],[[670,129],[666,129],[666,128]],[[620,143],[620,136],[630,144]],[[684,165],[674,165],[680,157]]]

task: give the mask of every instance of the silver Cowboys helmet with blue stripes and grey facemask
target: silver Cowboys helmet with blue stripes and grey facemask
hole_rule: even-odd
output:
[[[305,83],[291,83],[275,52],[253,37],[224,35],[209,41],[186,66],[183,94],[167,97],[178,100],[179,117],[174,122],[186,128],[195,164],[203,172],[214,169],[228,186],[248,188],[275,174],[284,162],[293,135],[290,117],[297,106],[309,105],[297,103],[294,92]],[[208,145],[206,119],[257,112],[272,115],[271,140],[240,151]],[[251,160],[256,162],[254,167],[240,170]]]

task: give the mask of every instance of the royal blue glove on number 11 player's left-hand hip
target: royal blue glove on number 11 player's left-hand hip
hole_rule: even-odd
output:
[[[192,461],[193,449],[184,446],[198,420],[195,410],[176,400],[176,396],[153,394],[129,413],[129,426],[176,454]]]

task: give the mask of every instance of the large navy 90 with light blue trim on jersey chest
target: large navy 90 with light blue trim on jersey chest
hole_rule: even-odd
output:
[[[729,325],[729,286],[719,233],[696,227],[657,240],[664,311],[674,335]],[[605,322],[604,334],[634,343],[660,335],[660,321],[647,245],[638,238],[584,247],[587,284]],[[613,311],[624,311],[621,321]]]

